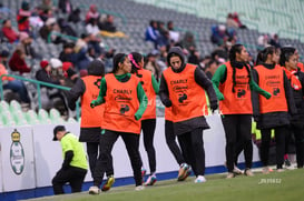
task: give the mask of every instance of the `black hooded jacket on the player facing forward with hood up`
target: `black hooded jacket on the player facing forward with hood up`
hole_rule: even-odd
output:
[[[168,52],[168,57],[167,57],[168,61],[171,53],[178,54],[182,59],[182,68],[178,70],[173,69],[173,71],[177,73],[182,73],[186,67],[185,59],[184,59],[185,56],[179,48],[171,48],[170,51]],[[206,74],[199,69],[199,67],[195,69],[194,78],[196,83],[207,91],[209,102],[210,102],[210,108],[217,109],[217,98],[216,98],[216,93],[214,91],[213,84],[210,80],[206,77]],[[165,107],[171,105],[171,101],[169,99],[168,86],[164,78],[164,74],[161,74],[161,79],[160,79],[159,97]],[[187,121],[180,121],[180,122],[174,123],[175,134],[183,134],[186,132],[190,132],[197,128],[209,129],[209,125],[206,122],[206,119],[204,115],[189,119]]]

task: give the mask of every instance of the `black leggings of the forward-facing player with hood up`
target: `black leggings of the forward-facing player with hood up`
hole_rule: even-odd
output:
[[[205,174],[203,128],[177,135],[184,159],[192,165],[195,175]]]

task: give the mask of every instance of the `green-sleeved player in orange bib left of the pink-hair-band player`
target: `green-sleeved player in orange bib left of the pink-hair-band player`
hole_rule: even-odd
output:
[[[139,154],[140,119],[148,99],[139,79],[130,73],[131,63],[125,53],[114,57],[112,73],[101,79],[100,92],[91,107],[105,104],[104,129],[100,137],[100,153],[94,172],[94,185],[89,193],[98,194],[104,173],[111,158],[111,150],[119,137],[122,138],[134,171],[136,190],[143,190],[141,159]]]

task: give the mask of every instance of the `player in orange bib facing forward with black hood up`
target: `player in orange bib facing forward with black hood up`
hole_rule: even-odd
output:
[[[179,47],[169,50],[167,61],[169,68],[163,72],[159,96],[165,107],[171,107],[174,132],[185,160],[194,170],[195,182],[206,182],[203,141],[203,130],[209,128],[204,117],[208,113],[206,97],[208,94],[212,110],[218,107],[217,98],[210,80],[198,67],[185,62]]]

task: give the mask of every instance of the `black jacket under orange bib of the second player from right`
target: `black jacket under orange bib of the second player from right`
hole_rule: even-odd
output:
[[[273,69],[273,64],[263,64],[267,69]],[[255,69],[253,69],[253,79],[258,84],[258,73]],[[252,100],[253,100],[253,115],[255,121],[257,122],[257,129],[273,129],[282,125],[290,125],[291,115],[296,113],[294,97],[291,83],[284,72],[284,89],[285,97],[288,105],[288,112],[269,112],[269,113],[259,113],[259,100],[258,94],[253,91]]]

